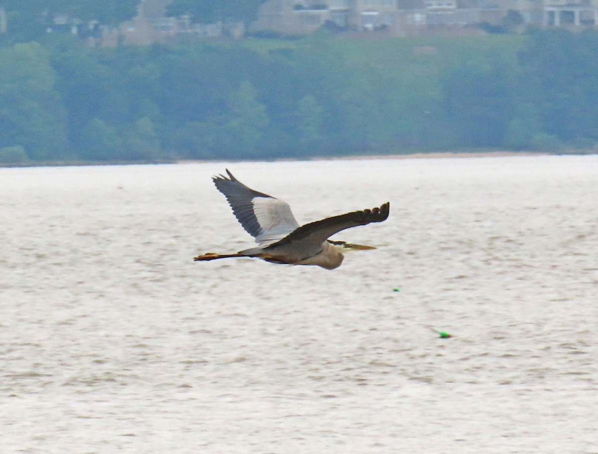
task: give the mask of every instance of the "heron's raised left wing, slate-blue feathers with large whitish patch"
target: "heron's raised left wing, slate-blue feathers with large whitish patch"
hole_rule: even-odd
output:
[[[298,228],[288,203],[248,188],[228,169],[226,173],[228,177],[213,177],[214,184],[227,198],[239,223],[257,243],[278,241]]]

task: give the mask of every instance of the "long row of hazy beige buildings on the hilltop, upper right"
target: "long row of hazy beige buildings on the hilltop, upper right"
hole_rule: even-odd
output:
[[[249,29],[301,35],[328,26],[412,36],[484,27],[515,31],[529,24],[598,26],[598,0],[269,0]]]

